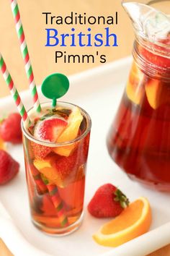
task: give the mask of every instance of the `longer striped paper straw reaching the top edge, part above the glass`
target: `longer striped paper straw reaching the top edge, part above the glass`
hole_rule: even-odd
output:
[[[33,98],[34,108],[35,108],[35,111],[40,112],[41,106],[40,106],[40,102],[38,100],[37,88],[35,85],[35,78],[34,78],[34,74],[32,71],[32,65],[30,62],[30,55],[28,52],[27,43],[26,43],[26,40],[24,37],[24,29],[23,29],[22,20],[20,18],[20,14],[19,14],[19,7],[18,7],[16,0],[10,0],[10,1],[11,1],[12,13],[14,16],[14,21],[15,21],[15,27],[17,30],[18,38],[19,38],[20,49],[22,52],[22,58],[24,59],[24,68],[25,68],[25,72],[27,74],[27,78],[28,78],[29,85],[30,85],[31,95]]]

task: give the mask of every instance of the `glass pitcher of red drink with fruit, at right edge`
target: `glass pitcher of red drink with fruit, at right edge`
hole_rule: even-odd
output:
[[[122,5],[135,28],[133,64],[107,148],[131,179],[170,192],[169,15],[144,0]]]

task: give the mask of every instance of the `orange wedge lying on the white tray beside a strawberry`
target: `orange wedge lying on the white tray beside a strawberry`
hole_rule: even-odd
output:
[[[151,208],[145,197],[132,202],[120,216],[104,224],[93,238],[98,244],[117,247],[148,231]]]

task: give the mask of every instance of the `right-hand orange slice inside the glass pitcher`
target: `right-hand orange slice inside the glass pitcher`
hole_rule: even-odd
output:
[[[169,101],[169,91],[160,80],[151,79],[146,83],[146,96],[151,108],[156,109]]]

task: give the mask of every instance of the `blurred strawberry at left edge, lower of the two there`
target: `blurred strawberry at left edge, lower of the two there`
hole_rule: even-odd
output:
[[[19,171],[19,163],[15,161],[9,153],[0,150],[0,184],[5,184]]]

